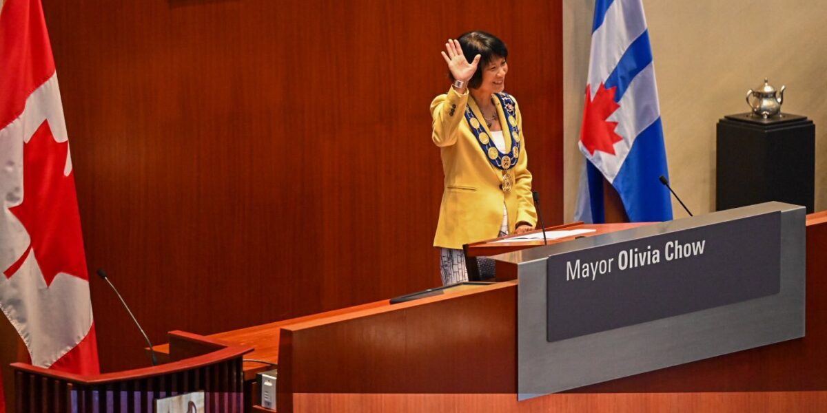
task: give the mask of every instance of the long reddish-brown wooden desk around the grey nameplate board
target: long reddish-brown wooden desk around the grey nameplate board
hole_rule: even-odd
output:
[[[211,337],[278,364],[280,413],[827,411],[827,211],[807,216],[806,225],[804,338],[528,401],[515,395],[517,280]],[[254,403],[251,381],[268,369],[245,363]]]

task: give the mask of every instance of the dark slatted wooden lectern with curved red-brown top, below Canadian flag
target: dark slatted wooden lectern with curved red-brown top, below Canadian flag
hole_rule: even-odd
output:
[[[97,375],[12,363],[15,411],[150,412],[156,399],[199,391],[208,412],[243,411],[241,356],[250,347],[171,331],[169,349],[169,363]]]

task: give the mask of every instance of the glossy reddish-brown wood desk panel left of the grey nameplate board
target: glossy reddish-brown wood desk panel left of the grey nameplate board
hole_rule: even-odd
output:
[[[296,393],[514,393],[516,286],[282,326],[278,410]]]

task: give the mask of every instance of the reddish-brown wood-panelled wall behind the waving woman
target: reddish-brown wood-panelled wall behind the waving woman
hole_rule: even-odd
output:
[[[89,271],[151,339],[440,284],[428,104],[448,37],[509,45],[547,225],[562,222],[562,4],[43,0]],[[91,282],[104,371],[146,365]]]

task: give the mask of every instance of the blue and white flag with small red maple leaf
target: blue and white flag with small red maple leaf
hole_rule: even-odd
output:
[[[603,178],[629,221],[672,220],[661,111],[642,0],[596,0],[586,108],[578,143],[581,173],[576,221],[605,221]]]

